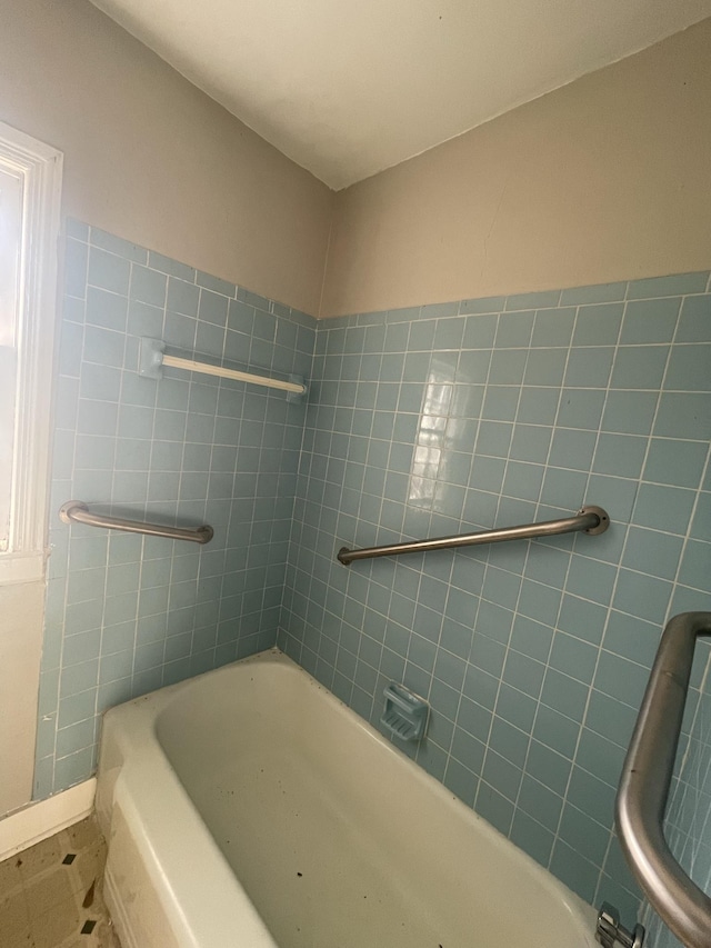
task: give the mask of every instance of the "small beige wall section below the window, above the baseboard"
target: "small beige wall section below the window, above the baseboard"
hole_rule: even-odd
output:
[[[32,795],[44,583],[0,586],[0,816]]]

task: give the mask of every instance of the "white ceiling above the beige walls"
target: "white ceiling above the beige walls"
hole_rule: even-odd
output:
[[[711,0],[93,0],[340,189],[711,16]]]

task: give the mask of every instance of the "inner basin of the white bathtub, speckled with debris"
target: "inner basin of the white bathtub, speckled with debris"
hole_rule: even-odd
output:
[[[156,735],[278,945],[594,944],[577,897],[307,672],[238,666]]]

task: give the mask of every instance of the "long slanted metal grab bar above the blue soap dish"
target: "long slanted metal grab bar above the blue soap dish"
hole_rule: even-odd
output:
[[[527,523],[523,527],[504,527],[500,530],[482,530],[479,533],[460,533],[455,537],[437,537],[432,540],[409,540],[387,547],[368,547],[362,550],[349,550],[342,547],[337,555],[344,566],[353,560],[371,557],[389,557],[395,553],[424,553],[428,550],[447,550],[451,547],[473,547],[479,543],[501,543],[504,540],[531,540],[534,537],[552,537],[557,533],[604,533],[610,518],[602,507],[583,507],[574,517],[562,520],[544,520],[541,523]]]

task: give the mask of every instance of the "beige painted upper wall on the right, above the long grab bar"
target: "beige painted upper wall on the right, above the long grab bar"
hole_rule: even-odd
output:
[[[705,269],[711,20],[338,194],[321,316]]]

